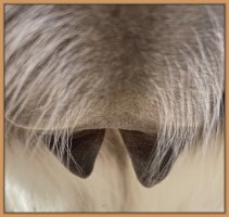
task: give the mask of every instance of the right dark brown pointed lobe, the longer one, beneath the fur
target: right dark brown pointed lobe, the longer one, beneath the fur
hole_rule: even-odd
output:
[[[120,133],[139,181],[144,187],[152,187],[162,181],[173,166],[173,149],[168,149],[160,164],[158,170],[154,171],[152,176],[150,167],[155,158],[157,136],[136,130],[120,130]]]

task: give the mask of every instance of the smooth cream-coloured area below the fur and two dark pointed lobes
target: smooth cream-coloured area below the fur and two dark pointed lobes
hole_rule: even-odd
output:
[[[94,170],[85,180],[67,171],[44,150],[28,157],[21,146],[7,148],[7,210],[224,212],[222,138],[216,144],[221,148],[213,145],[207,155],[199,152],[181,156],[169,176],[152,189],[139,183],[130,159],[120,170],[120,158],[115,158],[107,145],[117,143],[103,143]],[[116,149],[125,152],[122,145]]]

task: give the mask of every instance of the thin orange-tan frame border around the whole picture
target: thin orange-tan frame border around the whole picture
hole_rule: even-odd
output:
[[[225,213],[4,213],[4,4],[225,4],[225,63],[226,63],[226,94],[225,94],[225,111],[226,111],[226,131],[225,131]],[[87,217],[87,216],[104,216],[104,217],[124,217],[124,216],[139,216],[139,217],[150,217],[150,216],[158,216],[158,217],[175,217],[175,216],[211,216],[211,217],[225,217],[229,216],[228,207],[228,168],[229,168],[229,148],[227,148],[229,129],[228,122],[229,117],[227,115],[227,108],[229,107],[228,101],[228,88],[227,85],[229,82],[229,76],[227,73],[229,72],[229,0],[0,0],[0,216],[9,216],[9,217],[30,217],[30,216],[78,216],[78,217]]]

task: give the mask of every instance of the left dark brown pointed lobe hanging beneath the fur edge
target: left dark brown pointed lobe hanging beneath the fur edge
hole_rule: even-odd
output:
[[[64,140],[69,144],[69,150],[74,161],[68,157],[67,150],[64,150],[63,155],[63,165],[69,169],[74,175],[79,176],[80,178],[87,178],[93,170],[94,162],[97,155],[100,151],[105,129],[98,130],[84,130],[77,133],[72,135]],[[58,156],[59,151],[61,150],[62,139],[60,138],[56,143],[54,143],[54,138],[51,136],[49,140],[49,149],[52,150],[53,145],[55,146],[53,153]],[[69,165],[67,165],[67,159]]]

